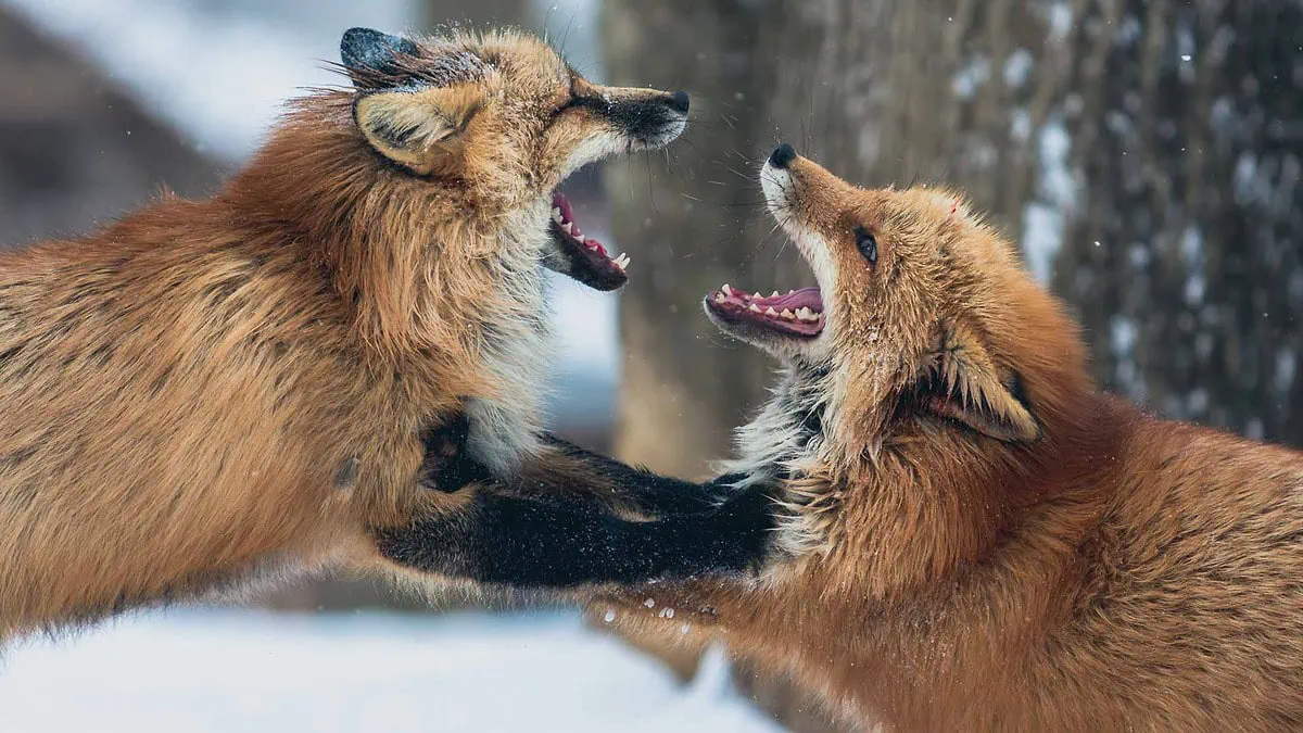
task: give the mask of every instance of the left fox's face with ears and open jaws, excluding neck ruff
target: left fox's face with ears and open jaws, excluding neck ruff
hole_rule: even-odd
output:
[[[585,237],[555,189],[588,163],[676,138],[685,93],[592,83],[511,33],[416,42],[351,29],[340,55],[357,87],[353,120],[377,153],[481,214],[516,219],[528,235],[516,254],[597,290],[624,284],[628,257]]]

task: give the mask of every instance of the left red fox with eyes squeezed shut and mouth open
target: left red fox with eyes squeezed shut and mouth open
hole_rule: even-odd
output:
[[[541,263],[614,290],[628,258],[555,189],[672,141],[687,94],[513,33],[340,52],[352,87],[296,100],[212,198],[0,253],[0,640],[394,567],[370,530],[464,503],[425,490],[453,415],[499,473],[571,460],[539,430]]]

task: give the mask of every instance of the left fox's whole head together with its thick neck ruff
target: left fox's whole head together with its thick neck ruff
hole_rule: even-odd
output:
[[[367,342],[430,348],[538,318],[538,265],[598,288],[627,258],[585,237],[556,187],[683,132],[688,95],[592,83],[516,33],[351,29],[345,87],[293,103],[228,196],[305,230]],[[469,338],[469,337],[468,337]]]

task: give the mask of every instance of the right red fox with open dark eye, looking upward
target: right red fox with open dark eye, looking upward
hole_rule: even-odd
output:
[[[723,638],[865,725],[1303,726],[1303,454],[1097,391],[1063,305],[955,193],[856,188],[788,145],[761,184],[818,287],[706,296],[782,364],[718,480],[731,519],[601,548],[747,562],[594,609]]]

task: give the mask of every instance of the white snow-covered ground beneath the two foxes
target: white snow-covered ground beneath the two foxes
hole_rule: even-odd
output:
[[[9,650],[0,730],[777,733],[726,666],[681,686],[573,613],[179,610]]]

